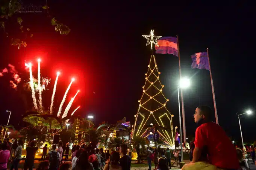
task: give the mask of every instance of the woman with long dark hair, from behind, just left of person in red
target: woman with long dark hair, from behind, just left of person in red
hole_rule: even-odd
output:
[[[74,170],[93,170],[92,163],[89,162],[88,153],[86,151],[83,151],[82,154],[80,154]]]

